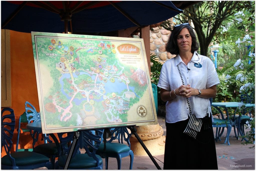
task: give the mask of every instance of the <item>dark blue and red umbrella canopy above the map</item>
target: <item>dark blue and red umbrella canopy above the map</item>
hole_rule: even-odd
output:
[[[1,28],[109,32],[152,25],[182,12],[171,1],[1,1]]]

